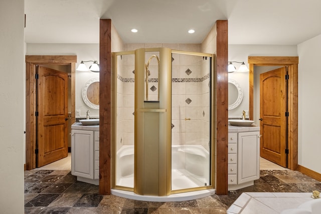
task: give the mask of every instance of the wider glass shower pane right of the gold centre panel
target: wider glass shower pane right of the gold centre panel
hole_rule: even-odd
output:
[[[172,192],[211,185],[210,56],[172,54]]]

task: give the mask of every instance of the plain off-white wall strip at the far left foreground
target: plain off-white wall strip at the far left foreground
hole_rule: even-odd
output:
[[[24,213],[24,10],[24,0],[0,2],[1,213]]]

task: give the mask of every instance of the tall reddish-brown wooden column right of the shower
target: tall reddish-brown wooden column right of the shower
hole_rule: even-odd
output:
[[[228,21],[218,20],[217,26],[217,111],[216,111],[216,193],[227,194],[228,156]]]

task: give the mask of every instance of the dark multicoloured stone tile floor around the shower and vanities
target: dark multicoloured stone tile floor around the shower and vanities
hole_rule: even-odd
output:
[[[261,170],[253,186],[228,195],[178,202],[148,202],[98,194],[70,170],[25,171],[25,213],[226,213],[242,192],[321,191],[321,182],[291,170]]]

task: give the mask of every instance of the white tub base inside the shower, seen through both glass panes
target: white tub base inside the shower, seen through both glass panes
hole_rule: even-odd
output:
[[[116,168],[116,185],[133,187],[133,145],[124,145],[117,151]],[[185,188],[209,185],[209,173],[209,152],[202,145],[172,145],[173,190],[178,189],[175,183]]]

